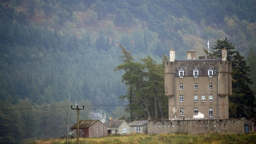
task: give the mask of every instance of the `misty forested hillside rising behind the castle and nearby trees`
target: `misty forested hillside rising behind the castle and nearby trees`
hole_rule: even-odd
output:
[[[71,126],[76,121],[68,107],[75,100],[99,105],[86,107],[81,118],[100,109],[107,119],[131,117],[124,112],[129,107],[106,106],[129,103],[124,71],[114,71],[122,64],[119,44],[134,62],[159,66],[169,49],[178,59],[186,50],[196,50],[198,57],[206,55],[208,39],[214,47],[225,37],[246,57],[255,82],[256,1],[1,0],[0,141],[60,137],[66,114]],[[159,98],[157,108],[154,97],[146,98],[150,108],[139,101],[145,111],[135,118],[155,117],[155,110],[158,118],[167,117],[163,91]]]

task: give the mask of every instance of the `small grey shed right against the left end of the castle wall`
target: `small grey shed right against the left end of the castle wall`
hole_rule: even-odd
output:
[[[135,120],[130,122],[129,125],[131,126],[131,132],[147,134],[147,123],[147,120]]]

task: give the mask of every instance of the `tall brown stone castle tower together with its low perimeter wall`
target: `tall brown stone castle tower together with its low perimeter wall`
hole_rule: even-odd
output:
[[[165,62],[165,95],[168,119],[148,120],[148,134],[185,132],[247,133],[253,132],[253,118],[229,119],[228,97],[232,95],[231,62],[227,49],[221,59],[199,56],[187,51],[187,59]]]

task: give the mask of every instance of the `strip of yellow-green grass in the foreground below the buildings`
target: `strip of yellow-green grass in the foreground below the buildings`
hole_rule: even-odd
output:
[[[39,140],[36,142],[32,142],[31,144],[65,144],[66,139],[49,139],[49,140]],[[69,139],[69,144],[77,143],[77,139]],[[186,135],[181,133],[175,134],[160,134],[160,135],[142,135],[142,134],[134,134],[134,135],[112,135],[104,138],[80,138],[80,144],[102,144],[102,143],[120,143],[120,144],[128,144],[128,143],[147,143],[147,144],[179,144],[179,143],[189,143],[189,144],[249,144],[256,143],[256,133],[247,134],[247,135],[216,135],[216,134],[208,134],[205,133],[203,135]]]

